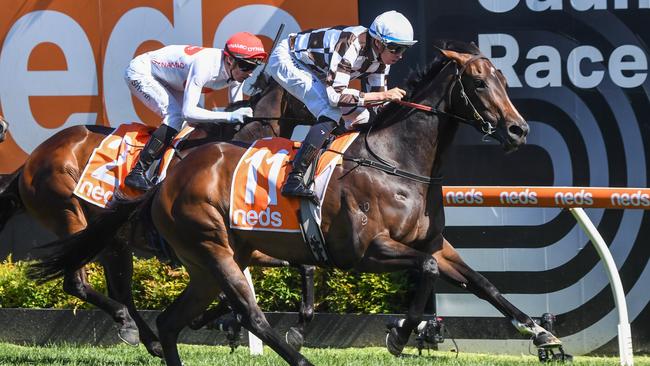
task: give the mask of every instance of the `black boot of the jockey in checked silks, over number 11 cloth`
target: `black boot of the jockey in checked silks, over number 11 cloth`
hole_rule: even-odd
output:
[[[336,128],[337,123],[330,118],[321,116],[318,123],[313,125],[302,142],[298,153],[291,162],[292,170],[282,186],[283,196],[307,197],[316,199],[316,193],[305,186],[304,175],[309,165],[314,161],[318,150]]]

